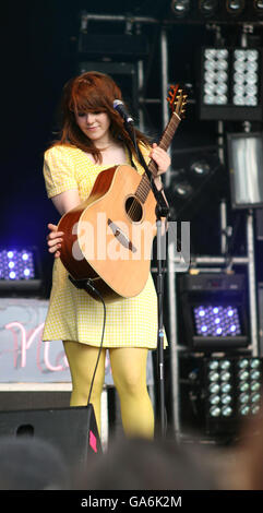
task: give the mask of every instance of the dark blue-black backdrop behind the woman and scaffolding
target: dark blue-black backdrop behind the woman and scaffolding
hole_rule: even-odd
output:
[[[2,51],[2,158],[1,158],[1,247],[36,246],[46,274],[47,294],[52,258],[46,251],[47,223],[58,215],[46,198],[43,179],[43,154],[52,140],[56,108],[63,83],[77,68],[76,39],[80,12],[169,17],[170,2],[164,0],[111,0],[111,2],[39,0],[9,2],[3,16]],[[115,22],[110,24],[115,29]],[[119,24],[116,23],[116,31]],[[145,73],[145,94],[160,95],[159,27],[144,26],[150,40],[150,57]],[[235,32],[234,28],[231,31]],[[216,144],[217,126],[200,121],[198,115],[198,70],[195,56],[203,44],[212,44],[211,32],[204,25],[174,25],[168,31],[169,81],[192,84],[187,118],[172,143],[174,167],[177,152],[195,146]],[[151,110],[152,109],[152,110]],[[148,130],[160,134],[159,107],[150,107]],[[210,189],[211,188],[211,189]],[[229,200],[227,171],[201,187],[198,202],[182,208],[180,218],[192,223],[192,244],[195,252],[218,251],[218,205],[222,196]],[[169,196],[177,206],[174,196]],[[242,216],[242,214],[241,214]],[[242,223],[240,224],[242,239]],[[239,232],[236,239],[240,246]],[[242,246],[242,241],[241,241]]]

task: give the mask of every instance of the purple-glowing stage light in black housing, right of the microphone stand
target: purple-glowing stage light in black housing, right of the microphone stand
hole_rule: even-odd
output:
[[[178,276],[180,338],[192,350],[220,350],[249,344],[243,275]]]

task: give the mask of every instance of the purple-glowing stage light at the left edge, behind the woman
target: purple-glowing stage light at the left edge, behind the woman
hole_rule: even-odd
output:
[[[37,289],[40,284],[36,249],[0,250],[0,290]]]

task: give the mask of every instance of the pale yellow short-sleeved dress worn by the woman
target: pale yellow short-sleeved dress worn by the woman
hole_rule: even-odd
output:
[[[146,155],[144,155],[146,157]],[[146,158],[145,158],[146,159]],[[76,147],[58,145],[44,158],[44,178],[48,198],[77,188],[84,201],[97,178],[109,166],[94,164]],[[143,168],[138,165],[140,174]],[[43,341],[75,341],[92,346],[101,342],[104,308],[85,290],[76,289],[60,259],[55,260],[52,289]],[[152,275],[134,298],[106,306],[104,347],[145,347],[157,345],[157,296]],[[166,339],[165,339],[166,345]]]

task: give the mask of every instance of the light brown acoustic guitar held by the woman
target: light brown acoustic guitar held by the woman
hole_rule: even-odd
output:
[[[159,146],[167,150],[183,117],[187,95],[171,86],[170,120]],[[155,170],[151,160],[148,169]],[[67,212],[60,259],[74,281],[88,279],[105,302],[136,296],[144,288],[156,235],[156,200],[146,172],[119,165],[99,172],[88,198]],[[98,299],[97,295],[89,291]]]

